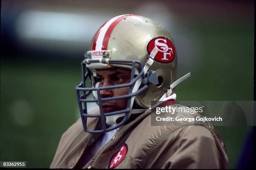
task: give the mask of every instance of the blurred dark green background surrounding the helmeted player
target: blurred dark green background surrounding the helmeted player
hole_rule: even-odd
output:
[[[27,161],[28,168],[50,166],[62,133],[79,118],[74,87],[81,81],[80,62],[90,39],[106,20],[124,13],[156,20],[173,36],[178,54],[177,77],[191,72],[191,77],[176,87],[177,100],[253,100],[253,1],[142,0],[133,1],[133,5],[119,1],[61,1],[61,5],[59,2],[2,1],[1,161]],[[99,6],[105,7],[108,15],[103,16],[106,13],[100,13]],[[88,9],[96,10],[97,15],[82,13]],[[24,29],[33,26],[29,26],[33,18],[22,15],[29,10],[50,11],[51,15],[76,13],[99,21],[83,28],[87,35],[84,41],[79,40],[83,32],[71,28],[67,31],[78,32],[77,40],[26,37],[26,32],[19,33],[19,29],[23,25]],[[27,21],[22,23],[23,20]],[[40,27],[44,27],[43,23]],[[50,24],[47,30],[57,30],[56,35],[61,28],[63,25]],[[40,34],[36,28],[29,31]],[[237,168],[252,127],[216,128],[228,150],[229,168]]]

